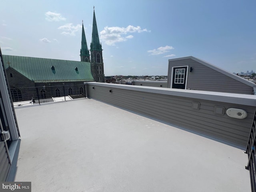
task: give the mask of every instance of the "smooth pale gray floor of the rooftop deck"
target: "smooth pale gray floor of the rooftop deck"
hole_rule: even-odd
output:
[[[242,150],[92,99],[17,108],[33,192],[249,192]]]

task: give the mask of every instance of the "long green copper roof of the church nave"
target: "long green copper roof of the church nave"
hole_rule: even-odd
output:
[[[3,55],[4,67],[34,82],[94,81],[89,62]]]

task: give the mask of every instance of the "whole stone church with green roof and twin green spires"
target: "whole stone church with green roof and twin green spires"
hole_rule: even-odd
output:
[[[90,53],[91,58],[90,58]],[[84,82],[104,82],[102,46],[93,12],[92,42],[88,50],[82,23],[81,61],[3,55],[12,100],[82,96]],[[27,88],[30,89],[27,89]],[[36,89],[37,90],[36,90]],[[33,91],[32,91],[33,90]]]

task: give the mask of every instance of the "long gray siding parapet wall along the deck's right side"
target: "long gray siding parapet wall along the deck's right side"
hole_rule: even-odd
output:
[[[106,102],[108,104],[153,118],[155,120],[172,124],[190,132],[224,142],[226,144],[245,149],[252,120],[256,110],[255,106],[242,105],[230,102],[203,100],[191,97],[173,96],[168,94],[153,93],[162,88],[138,88],[141,90],[128,90],[125,86],[97,85],[86,83],[88,97]],[[110,92],[111,90],[111,92]],[[165,89],[166,93],[177,90]],[[182,90],[184,94],[185,90]],[[188,90],[191,92],[191,90]],[[186,92],[186,91],[185,91]],[[192,91],[193,92],[193,91]],[[194,91],[195,92],[195,91]],[[189,93],[188,93],[189,94]],[[221,98],[221,96],[220,96]],[[232,99],[230,99],[232,100]],[[200,102],[200,109],[192,109],[192,102]],[[254,102],[256,105],[256,102]],[[244,109],[248,116],[245,119],[230,118],[224,115],[214,114],[214,106]]]

